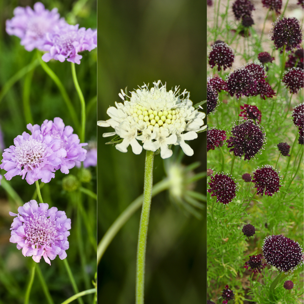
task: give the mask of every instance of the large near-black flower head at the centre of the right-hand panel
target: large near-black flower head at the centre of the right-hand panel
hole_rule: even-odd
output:
[[[264,128],[251,119],[235,122],[230,131],[231,136],[226,140],[227,147],[231,148],[229,152],[240,158],[244,155],[244,161],[261,154],[266,139],[263,131]]]

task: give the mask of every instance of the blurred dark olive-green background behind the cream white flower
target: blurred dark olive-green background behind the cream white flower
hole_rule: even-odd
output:
[[[98,120],[128,91],[161,80],[167,90],[180,85],[190,99],[206,99],[206,1],[98,1]],[[206,104],[205,104],[206,105]],[[206,112],[206,110],[205,110]],[[119,214],[143,192],[145,152],[121,153],[98,127],[98,241]],[[196,172],[206,171],[206,132],[189,142]],[[174,155],[179,151],[174,147]],[[172,158],[174,157],[172,156]],[[154,184],[164,178],[163,160],[154,158]],[[196,184],[206,194],[206,179]],[[135,264],[140,210],[126,223],[98,266],[98,303],[135,301]],[[147,239],[145,303],[206,303],[206,220],[185,216],[168,192],[152,199]]]

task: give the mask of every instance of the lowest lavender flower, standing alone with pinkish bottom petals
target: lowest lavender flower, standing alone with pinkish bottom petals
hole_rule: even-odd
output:
[[[25,257],[33,256],[33,260],[40,262],[41,257],[48,264],[59,255],[61,260],[67,257],[65,250],[69,249],[67,237],[70,235],[71,219],[64,211],[56,207],[49,209],[49,205],[35,200],[25,203],[18,208],[18,214],[12,223],[11,243],[17,243],[17,249],[22,249]]]

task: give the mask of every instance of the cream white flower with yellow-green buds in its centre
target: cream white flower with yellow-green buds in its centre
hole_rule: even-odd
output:
[[[175,87],[167,92],[166,85],[161,81],[154,82],[150,90],[143,85],[131,96],[121,90],[119,97],[124,103],[115,102],[115,107],[109,107],[107,114],[111,117],[106,121],[98,121],[98,126],[111,126],[115,132],[104,133],[103,137],[115,134],[123,138],[116,149],[127,152],[131,145],[135,154],[140,154],[142,148],[156,151],[161,149],[161,157],[172,155],[169,145],[180,145],[185,154],[193,155],[193,150],[185,140],[197,138],[197,132],[206,129],[203,119],[204,112],[199,112],[192,106],[189,92]],[[126,100],[128,99],[128,100]],[[187,132],[188,131],[188,132]],[[185,132],[185,133],[183,133]],[[143,147],[137,142],[141,140]]]

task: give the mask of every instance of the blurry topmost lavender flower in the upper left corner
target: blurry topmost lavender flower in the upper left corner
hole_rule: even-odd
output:
[[[14,15],[12,19],[6,20],[6,32],[19,37],[21,45],[29,52],[35,48],[43,50],[46,34],[67,24],[64,18],[59,19],[57,9],[49,11],[41,2],[34,4],[34,10],[29,6],[18,6],[14,9]]]

